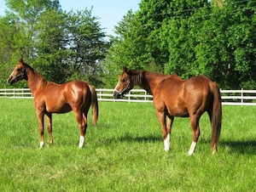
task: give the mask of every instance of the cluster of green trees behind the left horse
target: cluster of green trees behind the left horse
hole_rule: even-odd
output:
[[[62,83],[77,77],[104,86],[101,64],[109,42],[91,10],[66,13],[57,0],[8,0],[6,4],[9,11],[0,18],[0,69],[5,78],[5,71],[10,73],[23,58],[49,81]]]

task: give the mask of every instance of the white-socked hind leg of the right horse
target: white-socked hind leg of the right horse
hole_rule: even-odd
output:
[[[189,155],[193,155],[196,147],[197,140],[200,135],[200,128],[199,128],[199,119],[197,117],[190,117],[190,124],[192,127],[192,132],[193,132],[193,140],[189,148]]]

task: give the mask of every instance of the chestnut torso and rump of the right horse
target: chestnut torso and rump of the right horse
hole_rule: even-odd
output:
[[[182,80],[177,76],[168,76],[160,83],[154,96],[154,106],[158,110],[167,110],[170,116],[189,116],[207,110],[212,99],[207,76],[193,76]]]

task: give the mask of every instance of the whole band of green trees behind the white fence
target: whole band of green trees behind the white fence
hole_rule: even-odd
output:
[[[92,9],[67,13],[57,0],[6,4],[1,76],[23,57],[59,83],[82,79],[113,88],[127,66],[184,79],[205,74],[220,88],[256,89],[255,0],[142,0],[108,38]]]

